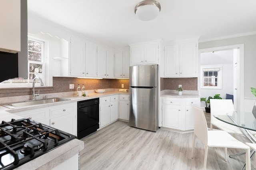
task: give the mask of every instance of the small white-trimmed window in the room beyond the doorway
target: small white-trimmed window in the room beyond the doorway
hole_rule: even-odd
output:
[[[201,88],[222,89],[222,67],[201,66]]]

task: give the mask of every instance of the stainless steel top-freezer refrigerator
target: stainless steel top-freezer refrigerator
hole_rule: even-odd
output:
[[[130,66],[130,126],[158,129],[158,65]]]

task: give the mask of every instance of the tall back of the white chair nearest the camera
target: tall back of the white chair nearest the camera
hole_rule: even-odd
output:
[[[194,115],[194,134],[202,141],[202,143],[204,143],[204,145],[207,145],[208,127],[204,116],[204,111],[196,106],[191,107]]]

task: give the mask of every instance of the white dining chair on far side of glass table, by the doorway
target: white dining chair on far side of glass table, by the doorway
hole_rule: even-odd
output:
[[[222,131],[226,131],[231,134],[243,135],[243,133],[238,129],[238,127],[234,125],[230,125],[223,121],[220,121],[213,116],[213,114],[218,111],[221,111],[218,114],[223,113],[223,115],[226,115],[225,111],[235,111],[232,99],[210,99],[210,107],[211,107],[210,130],[212,130],[212,125],[214,125],[215,127],[217,127]],[[250,131],[250,132],[253,135],[256,134],[255,131]]]

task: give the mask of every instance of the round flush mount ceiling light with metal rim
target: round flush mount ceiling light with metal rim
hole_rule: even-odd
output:
[[[142,21],[155,19],[161,10],[161,5],[155,0],[144,0],[135,6],[135,14]]]

